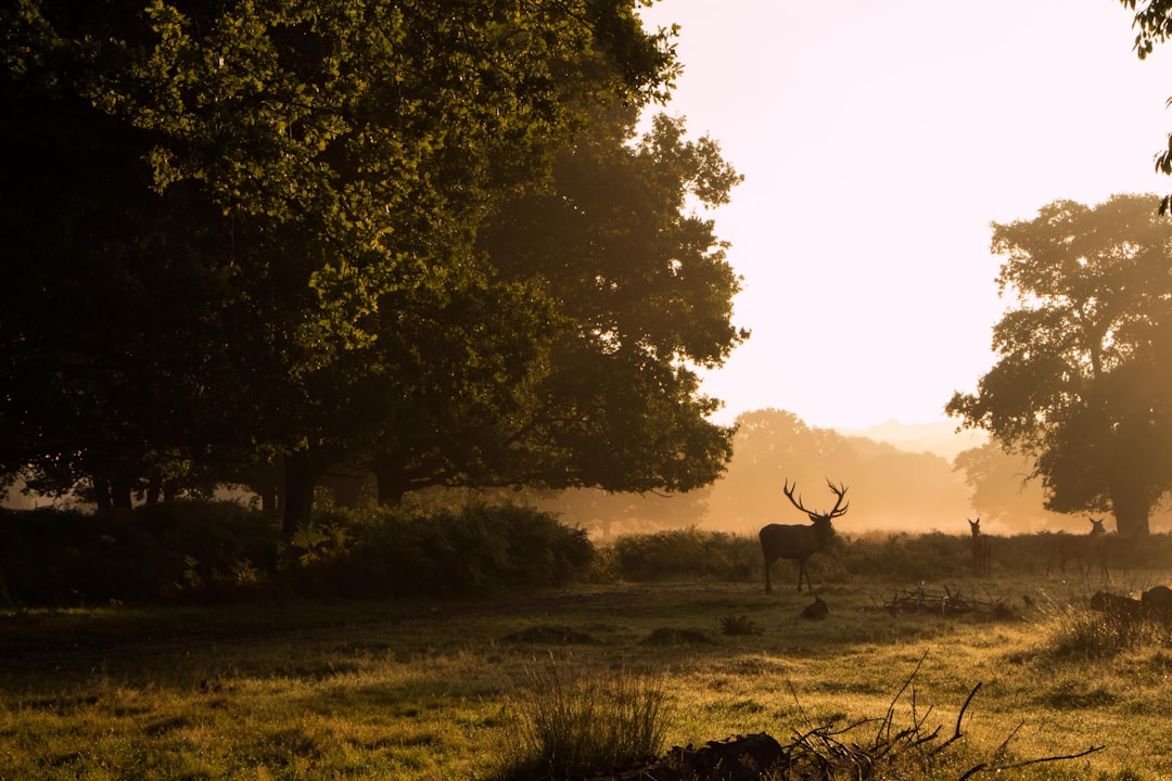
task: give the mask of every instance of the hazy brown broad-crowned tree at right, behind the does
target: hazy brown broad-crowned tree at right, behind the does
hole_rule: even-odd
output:
[[[1172,224],[1154,198],[994,226],[997,286],[1018,306],[976,393],[946,407],[1034,459],[1049,509],[1110,508],[1124,535],[1147,534],[1172,488]]]

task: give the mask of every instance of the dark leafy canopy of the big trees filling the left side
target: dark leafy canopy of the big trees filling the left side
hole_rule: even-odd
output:
[[[428,485],[688,489],[740,280],[689,208],[740,177],[640,110],[634,0],[28,0],[0,14],[0,472],[340,460]],[[254,474],[254,472],[251,472]]]

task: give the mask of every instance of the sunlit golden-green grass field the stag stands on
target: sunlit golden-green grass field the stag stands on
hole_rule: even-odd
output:
[[[757,732],[784,744],[824,725],[873,737],[890,713],[895,728],[939,727],[927,748],[961,737],[874,777],[986,763],[972,777],[1172,779],[1167,632],[1102,639],[1093,577],[816,577],[830,614],[808,621],[786,567],[772,595],[676,581],[0,615],[0,779],[518,777],[510,760],[551,676],[657,681],[666,747]],[[1170,582],[1134,570],[1111,589]],[[921,589],[921,610],[885,609]],[[942,615],[945,589],[979,609]]]

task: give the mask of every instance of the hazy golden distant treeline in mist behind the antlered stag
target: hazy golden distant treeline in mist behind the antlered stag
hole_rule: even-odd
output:
[[[850,488],[850,512],[838,526],[852,533],[965,533],[966,519],[975,518],[1002,534],[1085,530],[1085,515],[1044,508],[1041,482],[1026,481],[1029,471],[1026,459],[996,445],[965,450],[949,461],[809,426],[791,412],[758,410],[737,418],[732,457],[711,486],[673,495],[571,491],[532,494],[531,501],[602,539],[689,526],[754,535],[765,523],[806,522],[783,494],[786,481],[817,508],[833,501],[830,479]],[[1157,515],[1157,528],[1165,520]]]

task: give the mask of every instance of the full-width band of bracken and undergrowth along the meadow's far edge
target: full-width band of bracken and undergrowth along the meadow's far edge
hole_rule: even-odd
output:
[[[263,600],[489,598],[582,582],[710,580],[764,583],[756,535],[683,528],[592,541],[554,516],[471,505],[430,514],[329,511],[292,540],[271,515],[223,502],[130,513],[0,511],[0,608],[223,604]],[[1051,559],[1052,533],[993,537],[990,577],[1085,576]],[[1109,567],[1172,555],[1172,539],[1116,550]],[[808,568],[816,584],[977,577],[966,534],[839,533]],[[775,564],[781,587],[792,562]],[[1097,573],[1097,569],[1096,569]],[[1095,575],[1097,576],[1097,575]],[[984,580],[984,578],[982,578]]]

